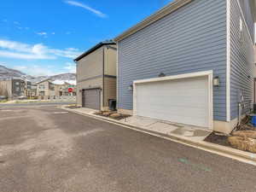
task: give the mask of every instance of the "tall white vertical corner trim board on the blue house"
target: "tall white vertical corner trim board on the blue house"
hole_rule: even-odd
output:
[[[231,48],[230,48],[230,22],[231,22],[231,5],[230,0],[226,0],[227,9],[227,63],[226,63],[226,120],[230,122],[230,65],[231,65]]]

